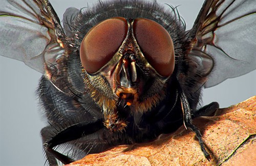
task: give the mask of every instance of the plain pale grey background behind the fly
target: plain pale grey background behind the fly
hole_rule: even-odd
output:
[[[1,0],[0,0],[1,1]],[[62,20],[68,7],[81,8],[97,1],[50,1]],[[190,29],[203,1],[158,1],[178,7]],[[0,56],[0,165],[44,165],[39,132],[46,123],[41,118],[35,90],[41,74],[23,62]],[[221,107],[244,101],[256,93],[256,72],[204,90],[203,103]]]

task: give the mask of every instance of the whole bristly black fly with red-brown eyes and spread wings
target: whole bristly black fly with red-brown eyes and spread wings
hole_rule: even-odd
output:
[[[22,60],[44,73],[38,96],[50,124],[41,130],[50,165],[57,164],[56,159],[70,163],[116,145],[150,141],[183,123],[196,133],[209,158],[191,119],[210,115],[219,107],[214,102],[198,109],[204,86],[255,69],[255,43],[246,43],[250,49],[244,50],[243,56],[236,53],[240,49],[235,55],[232,52],[236,45],[225,50],[225,43],[220,42],[220,30],[229,23],[241,20],[253,25],[255,9],[248,3],[206,1],[194,27],[185,32],[176,9],[169,6],[170,11],[165,11],[156,2],[110,1],[86,10],[69,8],[62,29],[48,1],[5,1],[3,7],[27,7],[20,18],[28,18],[23,21],[31,21],[34,27],[33,31],[25,28],[23,38],[37,32],[35,36],[42,40],[30,44],[43,51],[29,50],[30,61],[27,55]],[[238,12],[240,16],[235,18],[226,16],[228,9],[239,8],[248,10]],[[17,25],[19,15],[13,14],[12,8],[4,10],[1,19],[8,22],[11,18],[9,22]],[[249,27],[245,31],[253,34],[256,30]],[[239,35],[237,38],[242,40]],[[248,36],[246,41],[253,39]],[[12,57],[12,46],[4,43],[3,54]],[[223,72],[222,63],[234,66],[232,72],[229,66]],[[56,146],[62,145],[67,146],[68,155],[58,152]]]

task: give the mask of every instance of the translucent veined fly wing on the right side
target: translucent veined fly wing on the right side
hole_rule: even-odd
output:
[[[188,55],[214,60],[205,87],[256,68],[256,6],[251,0],[205,1],[189,31]],[[196,57],[196,58],[198,58]],[[204,60],[203,60],[204,61]],[[203,64],[204,62],[202,62]],[[206,63],[205,63],[206,64]]]

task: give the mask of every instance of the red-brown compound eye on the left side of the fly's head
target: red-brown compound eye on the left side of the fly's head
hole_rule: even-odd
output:
[[[84,69],[93,74],[108,63],[124,41],[127,31],[127,21],[123,17],[106,19],[94,26],[80,46]]]

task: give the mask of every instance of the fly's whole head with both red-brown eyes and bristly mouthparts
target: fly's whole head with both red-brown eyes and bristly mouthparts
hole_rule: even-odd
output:
[[[146,18],[101,21],[84,36],[80,59],[86,88],[110,131],[158,105],[175,67],[172,38]]]

